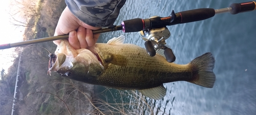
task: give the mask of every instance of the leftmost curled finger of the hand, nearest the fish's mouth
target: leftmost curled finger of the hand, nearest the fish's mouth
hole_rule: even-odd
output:
[[[80,43],[77,38],[77,33],[74,30],[69,32],[69,43],[74,49],[80,49]]]

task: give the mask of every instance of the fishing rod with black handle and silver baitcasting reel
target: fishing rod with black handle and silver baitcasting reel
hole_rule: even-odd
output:
[[[215,14],[229,12],[231,14],[238,14],[242,12],[253,11],[256,9],[256,2],[245,2],[231,4],[228,8],[212,9],[201,8],[188,11],[182,11],[174,13],[174,10],[168,17],[154,16],[147,19],[135,18],[125,20],[120,26],[111,26],[108,28],[102,28],[99,30],[93,30],[93,34],[113,32],[122,30],[124,33],[139,32],[143,40],[145,40],[145,48],[150,56],[156,55],[156,50],[163,49],[164,55],[168,62],[174,62],[176,57],[173,54],[172,49],[167,48],[165,40],[170,36],[169,30],[166,26],[172,26],[177,24],[184,24],[188,22],[200,21],[213,17]],[[0,50],[9,49],[13,47],[19,47],[22,45],[53,41],[58,39],[68,39],[69,35],[59,35],[52,37],[45,37],[27,41],[21,41],[16,43],[0,44]]]

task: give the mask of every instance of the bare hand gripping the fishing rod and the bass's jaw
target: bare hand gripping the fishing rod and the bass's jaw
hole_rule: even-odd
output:
[[[98,40],[100,34],[92,33],[92,30],[97,29],[100,29],[100,27],[92,27],[85,24],[66,7],[60,15],[54,36],[69,33],[69,43],[74,49],[87,48],[92,47]],[[53,42],[59,45],[60,40]]]

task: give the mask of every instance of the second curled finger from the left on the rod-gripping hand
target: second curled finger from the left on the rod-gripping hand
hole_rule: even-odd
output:
[[[80,43],[80,48],[85,49],[88,47],[87,41],[86,41],[86,29],[80,26],[77,29],[77,38]]]

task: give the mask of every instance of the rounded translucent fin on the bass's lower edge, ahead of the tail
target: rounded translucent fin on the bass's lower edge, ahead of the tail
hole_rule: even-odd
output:
[[[153,88],[140,89],[138,91],[140,91],[142,95],[155,100],[162,99],[166,94],[166,89],[164,88],[163,84]]]

